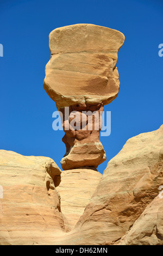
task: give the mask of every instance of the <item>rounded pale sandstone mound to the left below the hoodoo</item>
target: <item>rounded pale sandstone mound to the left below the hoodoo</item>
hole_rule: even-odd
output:
[[[55,188],[60,173],[49,157],[0,150],[0,245],[49,243],[54,231],[65,231]]]

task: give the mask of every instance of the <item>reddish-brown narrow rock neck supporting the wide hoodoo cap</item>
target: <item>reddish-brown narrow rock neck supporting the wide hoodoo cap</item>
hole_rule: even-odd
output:
[[[81,108],[83,111],[79,110]],[[94,114],[92,114],[92,109]],[[64,170],[83,166],[97,168],[106,160],[103,145],[99,141],[103,105],[72,106],[68,111],[70,112],[67,115],[68,118],[64,111],[61,112],[64,117],[65,131],[62,141],[66,145],[66,154],[61,160],[62,168]],[[72,122],[75,123],[75,127],[72,127]]]

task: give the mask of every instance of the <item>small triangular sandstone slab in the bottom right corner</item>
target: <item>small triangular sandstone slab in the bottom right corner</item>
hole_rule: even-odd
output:
[[[120,245],[163,245],[163,197],[156,197],[135,221]]]

